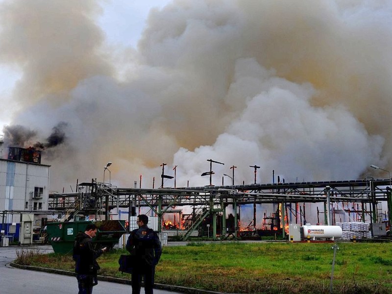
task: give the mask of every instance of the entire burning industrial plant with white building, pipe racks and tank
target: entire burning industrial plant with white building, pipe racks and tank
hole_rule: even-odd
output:
[[[2,137],[1,141],[2,143]],[[4,150],[1,146],[1,153]],[[2,154],[1,154],[2,155]],[[262,240],[273,237],[291,242],[309,240],[371,240],[388,238],[391,220],[391,178],[176,187],[165,174],[159,188],[117,187],[111,183],[108,162],[102,182],[76,183],[73,193],[49,193],[50,166],[41,164],[35,148],[9,147],[0,158],[1,245],[50,242],[55,248],[72,243],[79,225],[100,223],[101,242],[114,246],[135,228],[136,215],[151,218],[154,230],[167,240],[193,236],[211,240]],[[252,167],[252,166],[251,166]],[[374,169],[381,169],[371,166]],[[175,169],[174,169],[175,170]],[[387,171],[387,170],[384,170]],[[105,181],[105,172],[109,181]],[[388,171],[387,171],[388,172]],[[165,188],[164,179],[174,181]],[[247,211],[246,218],[242,215]],[[249,217],[251,211],[251,217]],[[257,216],[259,216],[257,218]],[[261,216],[261,218],[260,218]],[[261,221],[260,221],[261,219]],[[310,221],[312,220],[312,221]],[[60,246],[58,250],[64,250]]]

